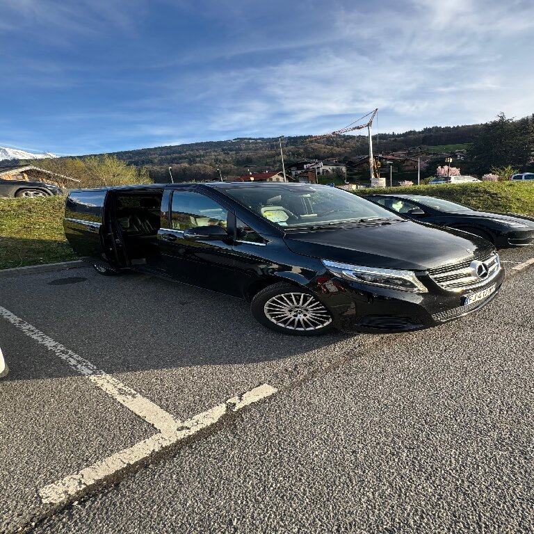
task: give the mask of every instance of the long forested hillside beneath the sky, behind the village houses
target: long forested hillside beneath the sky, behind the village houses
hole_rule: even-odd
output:
[[[298,136],[284,138],[282,147],[286,171],[289,171],[291,163],[302,159],[351,162],[368,154],[369,143],[364,135],[322,139]],[[534,115],[512,120],[501,113],[496,120],[486,124],[380,133],[373,136],[373,147],[375,154],[390,154],[405,149],[410,156],[434,154],[430,159],[425,159],[421,174],[423,178],[434,175],[437,165],[444,164],[446,155],[458,149],[467,150],[455,160],[462,174],[480,177],[492,168],[503,167],[509,167],[511,172],[534,170]],[[175,181],[219,179],[219,172],[225,179],[232,179],[249,170],[282,170],[278,138],[236,138],[115,152],[107,154],[111,156],[109,159],[104,156],[101,154],[97,159],[71,157],[40,160],[40,164],[60,174],[77,176],[79,173],[76,174],[76,170],[85,168],[84,165],[92,168],[94,161],[102,161],[107,167],[113,168],[118,168],[118,163],[124,162],[135,165],[143,176],[149,172],[150,178],[156,182],[170,181],[169,168]],[[395,170],[401,171],[400,168]],[[361,176],[359,173],[362,173]],[[349,180],[368,181],[364,165],[359,168],[349,165],[347,177]],[[416,179],[416,172],[397,172],[396,179]]]

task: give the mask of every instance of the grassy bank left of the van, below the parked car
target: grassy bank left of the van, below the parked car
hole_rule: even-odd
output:
[[[64,212],[65,197],[0,199],[0,269],[76,259]]]

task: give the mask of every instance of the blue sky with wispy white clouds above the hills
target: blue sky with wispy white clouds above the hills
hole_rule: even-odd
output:
[[[0,0],[0,146],[113,152],[534,113],[531,0]]]

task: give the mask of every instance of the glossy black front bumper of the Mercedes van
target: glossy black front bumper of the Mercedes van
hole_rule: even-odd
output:
[[[387,334],[421,330],[476,312],[496,297],[503,279],[501,268],[488,284],[461,293],[439,288],[430,277],[421,277],[428,293],[364,286],[338,277],[330,277],[314,289],[340,330]],[[491,286],[495,291],[487,298],[464,304],[467,296]]]

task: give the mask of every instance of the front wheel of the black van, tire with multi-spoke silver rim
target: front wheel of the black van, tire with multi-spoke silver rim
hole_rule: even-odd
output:
[[[320,336],[334,326],[332,314],[313,293],[284,282],[259,291],[250,311],[270,330],[292,336]]]

